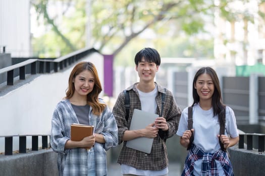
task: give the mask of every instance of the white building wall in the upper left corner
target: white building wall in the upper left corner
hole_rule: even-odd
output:
[[[30,56],[30,35],[30,0],[1,0],[0,52]]]

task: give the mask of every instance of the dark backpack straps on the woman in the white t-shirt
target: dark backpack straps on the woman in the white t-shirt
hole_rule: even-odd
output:
[[[223,119],[223,120],[220,120],[220,118]],[[218,119],[219,119],[219,122],[220,122],[220,135],[225,134],[226,108],[225,108],[224,113],[220,113],[220,114],[218,115]],[[190,106],[190,107],[188,107],[188,129],[189,129],[189,130],[192,129],[192,125],[193,125],[193,119],[192,119],[192,106]],[[190,149],[193,140],[194,140],[194,136],[193,136],[193,133],[192,133],[192,135],[191,135],[191,137],[190,137],[190,143],[189,143],[189,145],[188,145],[188,147],[187,147],[187,150]],[[227,150],[225,149],[224,144],[221,142],[220,138],[219,138],[219,144],[220,144],[220,146],[221,146],[221,149],[222,149],[223,151],[227,152]]]

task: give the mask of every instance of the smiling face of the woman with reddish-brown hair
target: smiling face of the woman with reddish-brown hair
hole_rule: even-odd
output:
[[[90,92],[92,92],[95,80],[91,71],[84,70],[77,74],[73,80],[75,92],[74,96],[83,97],[87,96]]]

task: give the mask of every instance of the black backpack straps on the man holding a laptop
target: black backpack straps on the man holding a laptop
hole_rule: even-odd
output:
[[[166,91],[166,88],[165,88],[165,91]],[[126,110],[126,116],[125,116],[125,118],[126,118],[126,121],[128,121],[129,114],[130,114],[130,95],[129,95],[129,91],[127,91],[127,90],[124,90],[123,92],[125,94],[125,103],[124,103],[125,110]],[[163,115],[165,98],[166,98],[166,94],[165,93],[162,93],[161,94],[162,104],[161,104],[161,116],[160,117],[162,117],[162,115]],[[159,129],[158,134],[166,142],[167,139],[164,138],[164,132],[161,129]]]

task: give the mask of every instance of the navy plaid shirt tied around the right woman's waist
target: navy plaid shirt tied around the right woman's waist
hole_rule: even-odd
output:
[[[186,157],[184,170],[182,176],[194,175],[194,162],[198,159],[202,159],[201,162],[201,176],[218,176],[218,168],[215,160],[221,162],[225,175],[233,176],[233,168],[230,159],[226,152],[218,150],[215,153],[204,153],[196,145],[192,144],[191,149]]]

